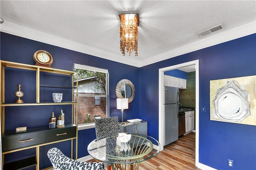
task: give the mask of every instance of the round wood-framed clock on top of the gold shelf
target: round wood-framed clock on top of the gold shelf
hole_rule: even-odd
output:
[[[52,64],[52,55],[44,50],[38,50],[34,53],[34,61],[36,62],[35,65],[38,66],[46,66],[51,67]]]

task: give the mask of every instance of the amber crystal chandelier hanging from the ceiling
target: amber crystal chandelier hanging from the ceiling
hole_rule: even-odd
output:
[[[120,14],[120,51],[138,56],[138,14]]]

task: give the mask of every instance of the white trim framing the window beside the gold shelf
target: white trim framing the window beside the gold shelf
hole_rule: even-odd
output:
[[[91,71],[96,71],[96,72],[104,72],[106,73],[107,75],[107,80],[106,80],[106,83],[107,83],[107,89],[106,91],[108,92],[108,96],[106,95],[97,95],[97,96],[106,96],[106,102],[108,104],[108,107],[106,110],[107,111],[107,116],[109,114],[109,103],[108,103],[108,98],[109,98],[109,75],[108,75],[108,70],[106,69],[103,69],[103,68],[98,68],[98,67],[93,67],[93,66],[87,66],[87,65],[83,65],[83,64],[77,64],[77,63],[74,63],[74,68],[79,68],[79,69],[84,69],[84,70],[91,70]],[[80,130],[85,130],[85,129],[92,129],[92,128],[95,128],[95,123],[86,123],[86,124],[80,124],[78,125],[78,131]]]

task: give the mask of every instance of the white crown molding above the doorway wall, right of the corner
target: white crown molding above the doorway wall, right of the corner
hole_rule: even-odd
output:
[[[204,49],[206,47],[211,47],[213,45],[231,41],[233,39],[238,39],[240,37],[244,37],[254,33],[256,33],[256,21],[248,23],[246,25],[242,25],[240,27],[236,27],[228,31],[222,31],[218,34],[213,34],[211,36],[204,37],[201,40],[196,41],[194,43],[176,48],[174,50],[162,53],[160,55],[150,57],[146,61],[141,62],[138,67],[146,66],[159,61],[177,57],[186,53]]]

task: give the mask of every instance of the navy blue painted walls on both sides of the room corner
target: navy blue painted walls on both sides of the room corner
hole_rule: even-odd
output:
[[[206,106],[206,112],[199,113],[199,162],[216,169],[226,170],[228,169],[227,159],[231,159],[234,160],[233,170],[256,169],[256,126],[210,121],[209,109],[210,80],[256,75],[256,34],[142,68],[2,32],[0,35],[1,60],[34,64],[34,52],[44,49],[54,58],[53,68],[73,70],[73,63],[78,63],[108,69],[110,72],[110,116],[118,115],[120,117],[120,111],[116,109],[114,91],[116,83],[122,78],[131,80],[135,85],[136,95],[134,101],[129,104],[129,109],[124,113],[124,119],[140,118],[147,120],[148,135],[156,139],[158,139],[158,69],[199,59],[199,107]],[[14,91],[16,90],[16,84],[10,84],[10,86],[13,86]],[[51,113],[50,110],[48,112]],[[30,116],[33,118],[36,113]],[[18,122],[18,119],[13,120],[13,123]],[[94,138],[94,129],[79,131],[78,158],[88,155],[86,147]],[[56,146],[68,155],[68,145],[69,143],[61,143]],[[45,156],[50,147],[52,146],[40,149],[40,152],[42,152],[42,155],[40,155],[40,169],[50,164]],[[33,152],[34,150],[28,151],[23,155],[27,156],[33,154]]]

